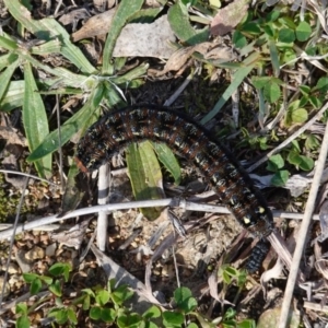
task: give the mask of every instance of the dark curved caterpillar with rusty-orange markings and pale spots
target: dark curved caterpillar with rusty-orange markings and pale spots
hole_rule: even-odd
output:
[[[262,238],[273,231],[271,211],[237,160],[200,124],[173,109],[141,105],[109,113],[80,140],[75,161],[82,172],[93,171],[129,143],[148,139],[166,143],[194,164],[254,235]]]

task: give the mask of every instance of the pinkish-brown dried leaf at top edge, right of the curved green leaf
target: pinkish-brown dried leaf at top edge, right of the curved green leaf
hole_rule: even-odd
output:
[[[231,32],[246,15],[248,2],[237,0],[221,9],[211,22],[211,34],[216,36]]]

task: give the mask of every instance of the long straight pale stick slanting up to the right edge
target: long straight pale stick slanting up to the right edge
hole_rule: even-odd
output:
[[[327,107],[328,107],[328,103],[324,106],[324,108],[327,108]],[[324,140],[323,140],[323,145],[321,145],[319,159],[317,162],[317,167],[315,171],[315,176],[313,178],[313,184],[311,186],[311,190],[308,194],[304,219],[301,224],[301,229],[300,229],[300,233],[298,233],[298,237],[297,237],[298,241],[297,241],[296,248],[294,251],[292,267],[290,270],[288,284],[286,284],[285,292],[284,292],[284,297],[283,297],[283,302],[282,302],[282,306],[281,306],[281,308],[282,308],[281,316],[280,316],[280,321],[279,321],[280,328],[286,327],[286,321],[288,321],[289,312],[290,312],[290,305],[291,305],[291,301],[292,301],[292,296],[293,296],[295,282],[297,279],[298,267],[300,267],[301,258],[303,255],[303,248],[304,248],[304,244],[306,241],[307,230],[308,230],[308,226],[311,223],[311,218],[312,218],[312,214],[314,211],[316,197],[317,197],[318,188],[320,185],[320,179],[321,179],[321,175],[323,175],[326,159],[327,159],[327,153],[328,153],[328,122],[326,125],[326,131],[325,131],[325,136],[324,136]]]

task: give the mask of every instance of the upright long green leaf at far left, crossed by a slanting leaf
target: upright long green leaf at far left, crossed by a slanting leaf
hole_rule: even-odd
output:
[[[23,124],[28,149],[33,152],[49,134],[49,127],[44,102],[37,93],[37,85],[28,62],[24,66],[24,80]],[[35,161],[34,164],[40,177],[49,178],[52,175],[50,154]]]

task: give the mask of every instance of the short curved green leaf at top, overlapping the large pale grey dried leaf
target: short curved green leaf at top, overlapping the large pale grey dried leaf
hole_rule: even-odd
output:
[[[176,36],[188,45],[197,45],[209,38],[210,32],[208,27],[197,31],[191,26],[187,7],[180,1],[177,1],[168,9],[167,20]]]

